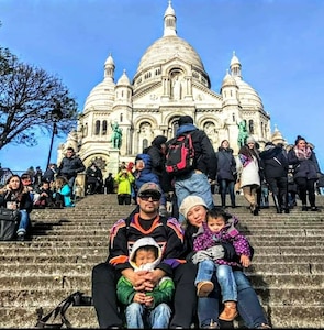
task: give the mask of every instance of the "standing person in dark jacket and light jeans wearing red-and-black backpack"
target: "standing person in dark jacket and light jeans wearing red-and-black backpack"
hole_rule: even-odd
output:
[[[214,199],[210,182],[215,179],[217,169],[214,147],[205,132],[199,130],[193,124],[192,117],[181,116],[178,124],[179,128],[176,136],[190,132],[194,147],[193,170],[183,176],[175,177],[175,193],[178,208],[189,195],[200,196],[206,202],[208,207],[212,208]],[[167,147],[168,142],[166,143]],[[183,215],[179,213],[179,221],[182,222],[183,220]]]

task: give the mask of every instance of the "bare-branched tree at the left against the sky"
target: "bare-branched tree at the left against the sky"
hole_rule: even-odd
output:
[[[0,150],[9,143],[36,145],[40,133],[54,128],[68,133],[77,116],[77,102],[59,78],[0,47]]]

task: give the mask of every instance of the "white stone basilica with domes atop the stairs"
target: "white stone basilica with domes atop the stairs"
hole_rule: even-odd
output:
[[[114,174],[121,162],[133,162],[156,135],[174,138],[182,114],[191,116],[206,132],[215,151],[226,139],[237,154],[242,123],[260,147],[268,141],[284,142],[277,129],[271,133],[270,116],[258,92],[244,81],[235,53],[228,64],[221,74],[220,91],[214,91],[199,54],[178,36],[169,1],[163,36],[143,54],[132,80],[124,70],[115,82],[114,59],[108,56],[103,80],[87,97],[77,130],[58,148],[57,163],[66,147],[72,146],[86,166],[96,162],[104,176]]]

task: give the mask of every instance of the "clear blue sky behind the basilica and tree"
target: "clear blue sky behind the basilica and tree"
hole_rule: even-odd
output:
[[[260,95],[265,110],[289,143],[297,135],[315,145],[324,172],[324,1],[172,0],[178,36],[199,53],[219,92],[233,51],[243,79]],[[168,0],[0,0],[0,45],[21,61],[58,76],[82,111],[103,79],[111,53],[115,80],[132,80],[146,48],[163,36]],[[65,138],[65,136],[64,136]],[[56,147],[65,139],[56,138]],[[7,146],[3,167],[46,165],[49,136],[38,146]]]

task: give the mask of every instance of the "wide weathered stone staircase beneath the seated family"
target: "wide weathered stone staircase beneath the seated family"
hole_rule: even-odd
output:
[[[273,328],[324,328],[324,196],[316,200],[322,212],[298,206],[277,215],[270,206],[253,217],[242,196],[228,209],[255,248],[246,273]],[[0,328],[34,328],[40,307],[46,314],[76,290],[91,295],[109,229],[133,208],[118,206],[116,195],[92,195],[75,208],[33,210],[31,240],[0,243]],[[74,328],[98,328],[93,307],[69,308],[67,317]]]

